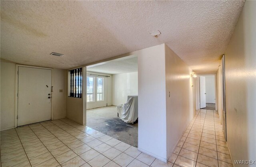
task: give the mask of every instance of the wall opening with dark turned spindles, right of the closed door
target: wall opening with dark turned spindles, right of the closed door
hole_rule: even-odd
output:
[[[70,97],[82,98],[82,68],[70,70]]]

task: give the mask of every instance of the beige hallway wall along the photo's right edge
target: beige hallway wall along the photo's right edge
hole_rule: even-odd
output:
[[[225,51],[227,143],[233,160],[256,158],[255,9],[256,1],[245,2]]]

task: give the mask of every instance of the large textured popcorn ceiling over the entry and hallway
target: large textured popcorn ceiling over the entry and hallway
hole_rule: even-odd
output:
[[[1,59],[70,69],[166,43],[197,73],[216,72],[244,5],[226,0],[0,3]],[[159,37],[150,35],[157,30]]]

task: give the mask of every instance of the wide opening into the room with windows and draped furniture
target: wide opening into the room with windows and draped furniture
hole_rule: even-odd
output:
[[[130,123],[120,119],[117,110],[122,110],[131,96],[137,96],[138,108],[137,57],[91,65],[86,73],[86,126],[138,147],[138,109],[137,118]]]

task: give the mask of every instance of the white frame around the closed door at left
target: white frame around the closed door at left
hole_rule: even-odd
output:
[[[47,67],[37,67],[37,66],[30,66],[30,65],[19,65],[16,64],[15,67],[15,112],[14,112],[14,128],[18,127],[18,70],[19,67],[30,67],[30,68],[35,68],[35,69],[48,69],[51,70],[51,75],[52,75],[52,68],[47,68]],[[52,76],[51,76],[52,78]],[[51,81],[52,84],[52,81]],[[53,118],[53,105],[52,105],[52,98],[51,98],[51,120]]]

